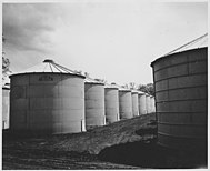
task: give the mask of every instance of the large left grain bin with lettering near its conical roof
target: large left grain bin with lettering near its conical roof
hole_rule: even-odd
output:
[[[36,134],[84,131],[84,78],[52,60],[10,76],[11,131]]]

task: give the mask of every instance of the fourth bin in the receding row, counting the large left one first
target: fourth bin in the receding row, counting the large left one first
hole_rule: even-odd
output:
[[[119,110],[120,120],[132,118],[132,98],[131,90],[120,88],[119,89]]]

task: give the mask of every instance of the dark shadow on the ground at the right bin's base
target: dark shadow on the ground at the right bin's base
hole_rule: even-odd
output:
[[[157,145],[156,140],[129,142],[103,149],[99,159],[113,163],[153,169],[207,168],[207,154],[183,152]]]

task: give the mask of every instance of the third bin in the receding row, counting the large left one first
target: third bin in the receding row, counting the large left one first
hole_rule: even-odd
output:
[[[119,121],[119,88],[106,84],[104,88],[104,108],[106,108],[106,123],[113,123]]]

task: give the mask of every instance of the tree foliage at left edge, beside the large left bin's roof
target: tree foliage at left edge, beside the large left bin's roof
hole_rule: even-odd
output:
[[[6,38],[2,36],[2,42],[6,42]],[[11,72],[10,71],[10,61],[9,59],[6,57],[6,53],[2,52],[2,79],[4,80],[6,77],[8,76],[8,73]]]

